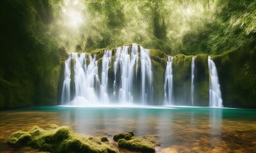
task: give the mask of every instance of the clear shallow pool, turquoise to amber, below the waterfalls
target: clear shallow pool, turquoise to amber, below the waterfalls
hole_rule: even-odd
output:
[[[161,144],[157,152],[256,152],[256,110],[62,106],[0,112],[0,152],[33,152],[12,149],[4,142],[15,131],[35,125],[45,128],[48,124],[71,126],[79,134],[108,138],[128,131],[136,136],[156,135]]]

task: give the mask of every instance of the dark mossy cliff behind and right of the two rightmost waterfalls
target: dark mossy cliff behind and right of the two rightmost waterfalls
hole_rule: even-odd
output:
[[[195,105],[208,106],[209,68],[207,54],[195,55]],[[240,50],[211,56],[216,64],[225,107],[256,108],[256,51]],[[191,56],[173,58],[174,98],[189,101],[191,84]],[[187,102],[188,103],[188,102]]]

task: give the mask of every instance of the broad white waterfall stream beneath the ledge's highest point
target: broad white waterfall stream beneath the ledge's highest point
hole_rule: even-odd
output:
[[[114,73],[115,80],[113,82],[113,95],[118,95],[119,101],[122,103],[133,102],[133,84],[134,84],[134,66],[138,71],[138,48],[136,44],[116,48]],[[120,87],[118,89],[118,67],[120,68]],[[118,92],[118,94],[116,94]]]

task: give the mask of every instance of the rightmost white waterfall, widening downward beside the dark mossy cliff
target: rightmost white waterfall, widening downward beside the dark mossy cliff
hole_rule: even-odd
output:
[[[220,84],[218,73],[214,62],[211,57],[208,57],[209,73],[211,75],[211,83],[209,86],[209,106],[222,107]]]

